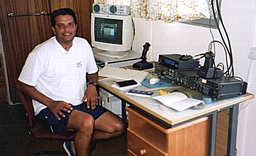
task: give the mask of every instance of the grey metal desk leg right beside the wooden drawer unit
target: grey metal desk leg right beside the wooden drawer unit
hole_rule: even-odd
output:
[[[216,143],[216,128],[217,128],[217,111],[212,113],[212,125],[211,125],[211,138],[210,138],[210,151],[209,155],[215,155],[215,143]]]

